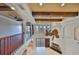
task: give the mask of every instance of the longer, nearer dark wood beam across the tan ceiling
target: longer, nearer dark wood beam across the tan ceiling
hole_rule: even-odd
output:
[[[32,12],[32,15],[51,15],[51,16],[63,16],[74,17],[78,16],[78,12]]]

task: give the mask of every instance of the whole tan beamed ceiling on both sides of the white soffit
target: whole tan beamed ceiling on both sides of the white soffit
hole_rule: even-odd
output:
[[[65,3],[61,7],[61,3],[44,3],[42,6],[39,3],[29,3],[29,7],[33,16],[51,16],[54,19],[47,18],[35,18],[36,21],[62,21],[63,18],[56,17],[74,17],[79,14],[79,3]],[[18,16],[18,14],[8,7],[6,4],[0,3],[0,14],[7,16]]]

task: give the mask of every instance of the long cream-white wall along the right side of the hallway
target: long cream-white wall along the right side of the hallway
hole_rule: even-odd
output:
[[[58,28],[60,33],[60,38],[55,39],[53,42],[56,42],[61,46],[61,50],[63,54],[67,55],[79,55],[79,40],[75,40],[79,38],[79,17],[71,17],[65,18],[60,26],[53,26],[52,22],[38,22],[42,24],[51,24],[52,28]],[[74,28],[76,28],[76,32]],[[77,37],[74,37],[77,36]]]

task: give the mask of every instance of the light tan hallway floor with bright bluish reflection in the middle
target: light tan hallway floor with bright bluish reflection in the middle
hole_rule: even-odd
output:
[[[24,55],[61,55],[61,54],[50,48],[45,47],[34,48],[32,43],[30,43],[29,47],[27,48],[27,52],[24,52]]]

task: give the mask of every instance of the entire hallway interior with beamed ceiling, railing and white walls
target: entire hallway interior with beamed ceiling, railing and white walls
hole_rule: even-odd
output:
[[[0,55],[79,55],[79,3],[63,4],[1,3]]]

